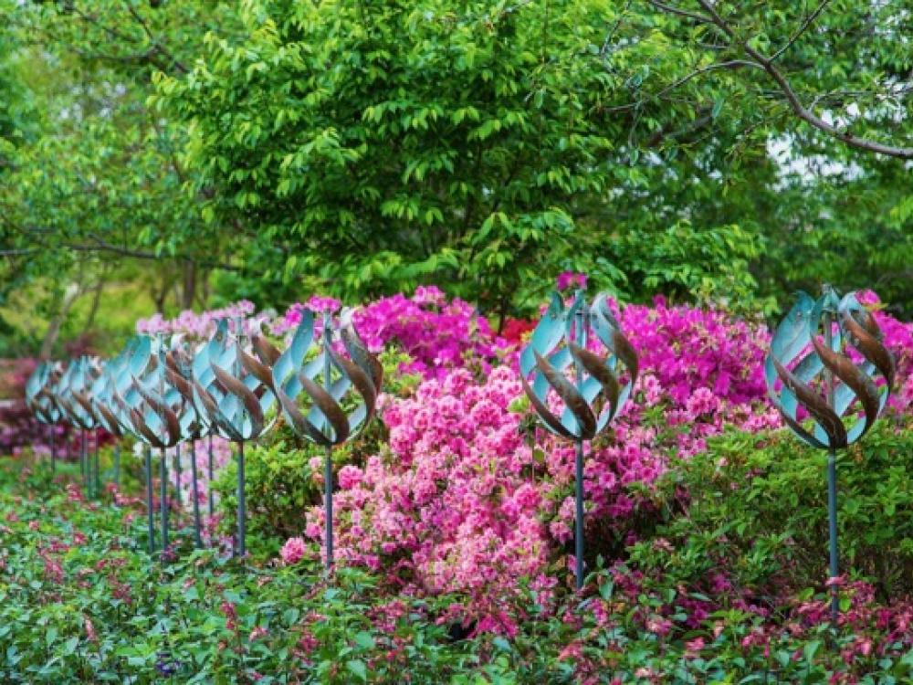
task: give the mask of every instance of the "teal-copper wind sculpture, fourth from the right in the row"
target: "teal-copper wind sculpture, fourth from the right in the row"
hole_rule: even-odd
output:
[[[244,350],[241,321],[235,322],[235,334],[228,332],[228,322],[219,321],[215,335],[194,356],[192,364],[194,404],[199,416],[215,433],[237,444],[237,535],[234,553],[243,559],[247,553],[244,445],[257,439],[273,425],[268,411],[276,397],[271,390],[268,346],[255,345],[258,361]],[[257,340],[260,340],[257,338]]]

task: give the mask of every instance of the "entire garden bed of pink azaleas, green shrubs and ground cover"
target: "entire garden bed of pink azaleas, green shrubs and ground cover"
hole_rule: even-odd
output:
[[[284,336],[300,310],[241,303],[138,327],[193,335],[230,313]],[[522,399],[529,323],[498,335],[429,288],[356,314],[389,380],[383,423],[334,455],[329,580],[321,453],[283,427],[248,451],[247,570],[228,556],[225,445],[200,494],[215,495],[212,546],[193,552],[184,531],[164,561],[144,552],[138,461],[120,490],[86,501],[73,465],[54,476],[40,446],[20,448],[0,489],[5,680],[903,682],[913,327],[876,317],[899,380],[887,416],[841,458],[833,632],[822,460],[766,401],[760,322],[662,299],[621,312],[641,379],[588,450],[591,574],[575,595],[572,448],[541,435]],[[204,443],[184,458],[202,466]]]

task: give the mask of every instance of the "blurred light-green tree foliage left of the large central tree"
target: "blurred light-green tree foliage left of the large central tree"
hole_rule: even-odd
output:
[[[146,290],[143,314],[204,303],[211,269],[234,268],[225,231],[184,187],[184,128],[145,100],[153,71],[181,71],[203,30],[230,29],[218,4],[4,0],[0,15],[0,306],[22,293],[77,337],[106,286]],[[85,307],[65,304],[71,289]],[[45,333],[10,325],[33,348]]]

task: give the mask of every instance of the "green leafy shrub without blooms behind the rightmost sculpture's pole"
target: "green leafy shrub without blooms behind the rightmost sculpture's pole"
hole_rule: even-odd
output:
[[[911,455],[909,426],[886,420],[838,458],[842,568],[874,580],[884,596],[913,590]],[[650,540],[630,553],[668,583],[722,572],[777,594],[827,577],[826,454],[788,432],[711,438],[706,453],[668,472],[660,492],[666,521],[654,535],[667,544]]]

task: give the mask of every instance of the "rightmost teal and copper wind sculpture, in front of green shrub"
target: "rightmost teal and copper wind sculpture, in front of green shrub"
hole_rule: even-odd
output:
[[[803,442],[828,452],[832,578],[839,574],[836,452],[866,435],[884,409],[894,383],[895,360],[881,338],[875,318],[855,292],[839,298],[825,285],[817,300],[805,292],[798,293],[792,310],[773,334],[764,364],[768,392],[786,425]],[[853,356],[847,353],[849,348],[855,350]],[[876,385],[879,376],[881,383]],[[833,586],[834,625],[839,614],[839,597]]]

